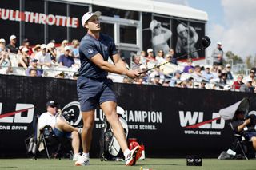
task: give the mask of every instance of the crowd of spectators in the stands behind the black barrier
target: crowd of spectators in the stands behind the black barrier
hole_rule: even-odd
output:
[[[218,48],[220,46],[221,42],[218,42]],[[38,44],[31,48],[28,39],[24,39],[22,45],[17,46],[15,35],[10,36],[10,43],[7,45],[1,38],[0,73],[76,79],[80,67],[78,47],[78,40],[63,40],[61,45],[56,45],[55,41],[51,40],[48,44]],[[216,53],[215,51],[213,56],[218,56]],[[142,72],[140,77],[130,79],[110,73],[109,78],[114,82],[137,85],[256,92],[254,69],[250,70],[250,75],[244,77],[234,75],[231,65],[223,65],[222,62],[197,65],[191,58],[183,62],[177,61],[174,49],[170,49],[168,53],[160,49],[155,54],[153,49],[147,49],[131,57],[130,67],[128,64],[126,66],[128,69],[139,69]],[[166,64],[162,65],[163,63]],[[151,70],[146,71],[147,69]]]

